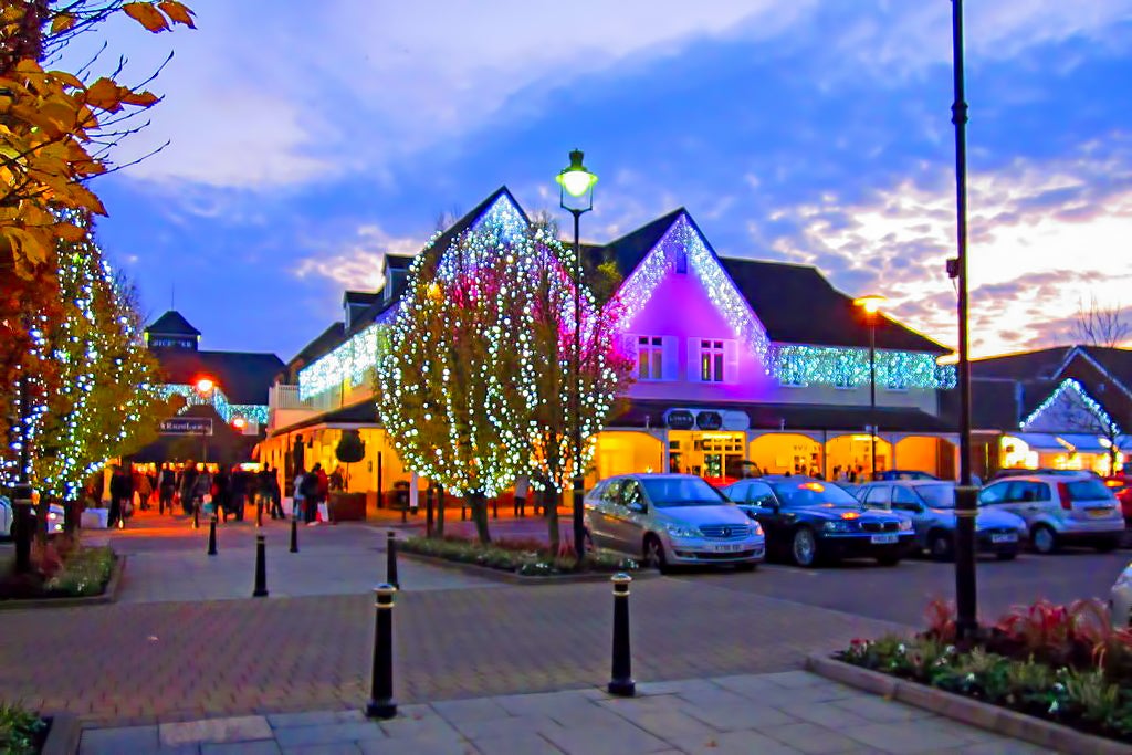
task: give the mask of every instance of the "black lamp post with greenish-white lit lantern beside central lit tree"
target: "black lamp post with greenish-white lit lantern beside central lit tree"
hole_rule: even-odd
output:
[[[571,392],[571,430],[574,446],[574,497],[573,523],[574,548],[581,564],[584,557],[585,526],[582,522],[582,498],[585,495],[585,472],[582,469],[582,239],[580,224],[582,215],[593,209],[593,185],[598,177],[582,164],[582,151],[569,153],[569,166],[558,172],[558,204],[574,216],[574,350],[571,368],[574,389]]]

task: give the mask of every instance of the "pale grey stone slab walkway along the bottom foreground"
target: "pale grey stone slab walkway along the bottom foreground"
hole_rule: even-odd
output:
[[[1045,750],[805,671],[359,710],[248,715],[84,732],[82,755],[795,755],[1029,754]]]

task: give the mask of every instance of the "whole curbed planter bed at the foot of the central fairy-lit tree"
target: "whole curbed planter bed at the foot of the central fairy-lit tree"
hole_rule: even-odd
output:
[[[574,572],[572,556],[550,558],[546,552],[534,550],[535,547],[537,543],[503,540],[483,548],[456,538],[409,538],[397,541],[398,554],[512,584],[601,582],[619,572],[632,574],[634,578],[652,574],[651,569],[642,572],[633,559],[610,556],[598,556],[597,565],[591,563],[586,570]]]

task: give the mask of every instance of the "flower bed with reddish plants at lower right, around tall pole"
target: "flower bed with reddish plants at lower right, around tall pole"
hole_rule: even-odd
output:
[[[955,642],[936,601],[914,637],[855,640],[839,660],[1132,744],[1132,630],[1099,601],[1017,607],[978,642]]]

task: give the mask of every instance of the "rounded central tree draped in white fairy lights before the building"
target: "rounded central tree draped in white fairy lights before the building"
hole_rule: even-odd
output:
[[[406,467],[469,499],[483,542],[487,498],[520,474],[561,490],[573,473],[573,289],[564,260],[568,252],[546,229],[481,224],[414,260],[383,334],[379,419]],[[610,323],[582,294],[581,421],[590,436],[620,378]]]

